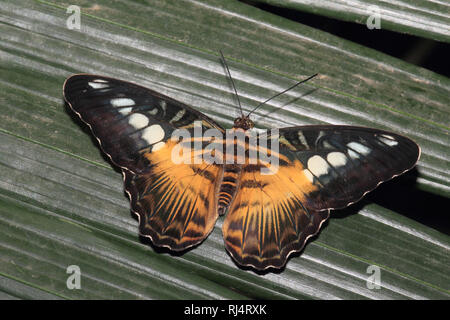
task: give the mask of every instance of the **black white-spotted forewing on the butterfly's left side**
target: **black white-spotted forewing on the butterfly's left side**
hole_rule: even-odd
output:
[[[140,162],[145,150],[158,148],[174,130],[192,128],[201,121],[204,129],[217,123],[169,97],[136,84],[97,75],[78,74],[66,80],[64,98],[90,127],[102,150],[126,170],[146,170]]]

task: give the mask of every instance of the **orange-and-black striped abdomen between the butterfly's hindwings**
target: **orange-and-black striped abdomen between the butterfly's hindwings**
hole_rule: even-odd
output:
[[[219,214],[223,215],[238,189],[239,178],[241,176],[242,166],[237,164],[226,164],[224,166],[222,183],[219,189]]]

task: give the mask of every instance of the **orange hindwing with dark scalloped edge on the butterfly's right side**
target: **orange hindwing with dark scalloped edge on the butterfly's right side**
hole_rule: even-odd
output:
[[[283,160],[271,175],[261,174],[261,162],[243,166],[222,227],[226,248],[239,264],[260,270],[284,266],[289,254],[300,251],[328,218],[328,211],[309,211],[303,205],[317,187],[300,161]]]

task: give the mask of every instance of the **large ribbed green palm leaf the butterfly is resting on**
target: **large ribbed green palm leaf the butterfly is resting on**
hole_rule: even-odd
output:
[[[449,237],[371,202],[335,213],[281,273],[238,268],[222,220],[183,255],[154,250],[137,236],[121,175],[62,100],[67,76],[98,73],[229,126],[238,111],[219,49],[245,110],[319,72],[259,109],[258,126],[345,123],[408,135],[423,150],[412,188],[445,199],[446,77],[237,1],[76,1],[81,29],[70,30],[73,2],[0,3],[0,297],[450,297]],[[80,290],[66,285],[70,265],[81,269]],[[380,289],[367,288],[370,265],[381,270]]]

